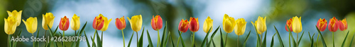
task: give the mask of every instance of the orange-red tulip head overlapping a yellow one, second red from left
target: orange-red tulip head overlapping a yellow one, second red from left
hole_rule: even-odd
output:
[[[99,16],[96,16],[94,19],[94,23],[92,23],[92,27],[96,30],[101,30],[102,27],[104,26],[104,16],[102,14],[99,14]]]

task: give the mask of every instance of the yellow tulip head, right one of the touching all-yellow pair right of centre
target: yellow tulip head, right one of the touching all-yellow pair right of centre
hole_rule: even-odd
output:
[[[236,35],[243,35],[245,32],[245,28],[246,21],[244,20],[244,18],[239,18],[238,20],[236,20],[236,26],[234,27],[234,32],[236,33]]]

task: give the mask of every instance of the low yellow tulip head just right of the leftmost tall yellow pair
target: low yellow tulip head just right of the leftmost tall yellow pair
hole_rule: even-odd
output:
[[[26,25],[26,29],[28,32],[30,32],[31,34],[33,34],[35,32],[35,30],[37,30],[37,18],[28,18],[26,21],[22,20],[23,23],[25,23]]]

